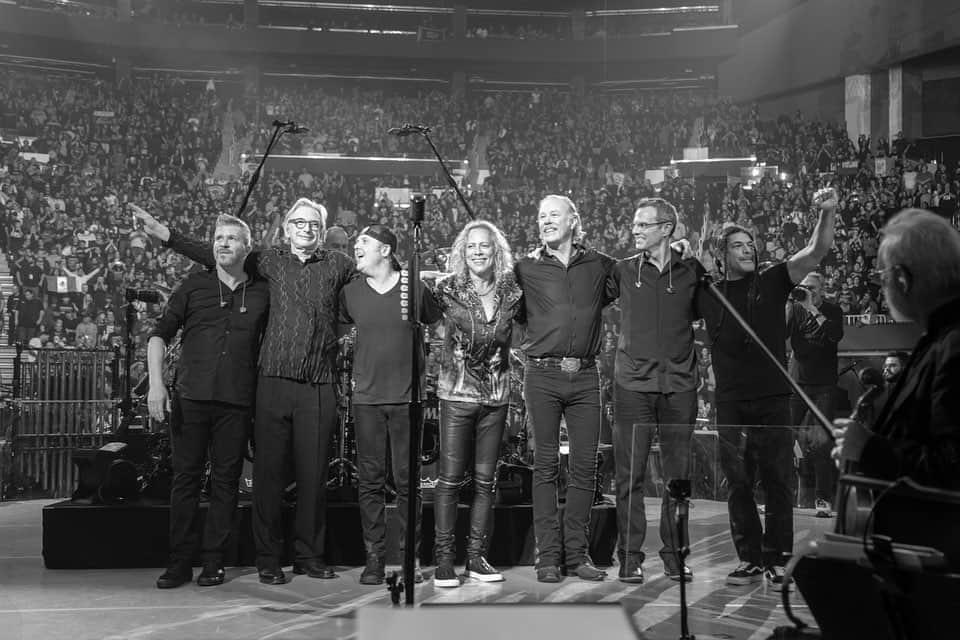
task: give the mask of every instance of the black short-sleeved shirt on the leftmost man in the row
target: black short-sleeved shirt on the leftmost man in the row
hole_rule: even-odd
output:
[[[169,344],[183,329],[180,397],[250,406],[269,299],[263,280],[231,291],[215,271],[193,273],[180,283],[151,333]]]

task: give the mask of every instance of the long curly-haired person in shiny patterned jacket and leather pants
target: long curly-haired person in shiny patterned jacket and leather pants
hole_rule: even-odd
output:
[[[520,288],[503,233],[485,220],[468,222],[450,252],[450,274],[436,284],[443,311],[440,458],[434,491],[438,587],[458,587],[454,529],[460,485],[473,460],[473,504],[465,574],[481,582],[503,580],[484,557],[500,442],[510,391],[510,344]]]

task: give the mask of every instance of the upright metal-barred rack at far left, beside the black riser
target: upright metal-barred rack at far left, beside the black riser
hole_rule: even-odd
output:
[[[12,474],[31,494],[69,496],[73,453],[99,448],[119,424],[118,350],[24,349],[14,360]]]

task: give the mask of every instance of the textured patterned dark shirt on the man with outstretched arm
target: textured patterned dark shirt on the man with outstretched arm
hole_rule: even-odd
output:
[[[167,244],[195,262],[212,266],[210,245],[171,230]],[[340,289],[354,273],[353,260],[318,249],[300,260],[289,248],[254,251],[245,268],[267,281],[270,319],[260,350],[260,375],[298,382],[336,378]]]

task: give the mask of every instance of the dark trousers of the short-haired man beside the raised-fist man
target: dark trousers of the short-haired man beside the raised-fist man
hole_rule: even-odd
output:
[[[621,562],[627,557],[643,562],[647,535],[644,481],[653,435],[660,435],[660,464],[664,483],[690,477],[690,444],[697,419],[697,392],[644,393],[616,387],[616,418],[613,456],[617,477],[617,550]],[[669,569],[679,569],[676,551],[677,503],[663,492],[660,503],[660,558]],[[686,523],[685,523],[686,524]],[[688,531],[683,532],[684,540]]]

